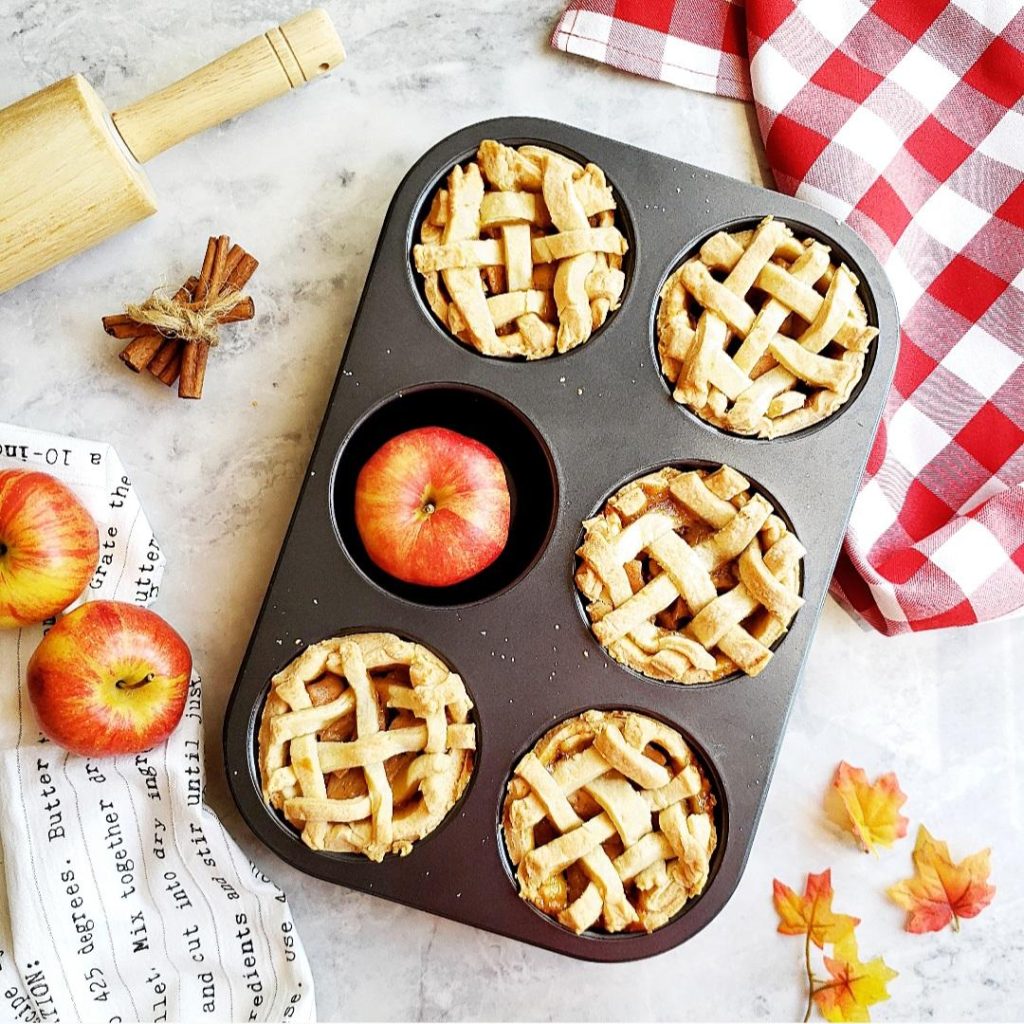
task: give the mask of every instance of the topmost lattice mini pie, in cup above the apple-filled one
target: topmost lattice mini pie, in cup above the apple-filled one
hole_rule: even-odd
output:
[[[483,355],[540,359],[582,345],[626,284],[614,211],[597,165],[486,139],[420,226],[413,261],[430,308]]]

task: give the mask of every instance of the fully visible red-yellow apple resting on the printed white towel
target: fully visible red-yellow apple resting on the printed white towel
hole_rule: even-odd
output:
[[[87,601],[29,660],[39,727],[75,754],[137,754],[166,739],[184,710],[191,654],[147,608]]]

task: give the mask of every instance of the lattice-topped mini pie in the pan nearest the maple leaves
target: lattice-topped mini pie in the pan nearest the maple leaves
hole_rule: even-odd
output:
[[[556,725],[503,814],[519,894],[578,934],[653,932],[708,882],[715,797],[683,737],[629,711]]]

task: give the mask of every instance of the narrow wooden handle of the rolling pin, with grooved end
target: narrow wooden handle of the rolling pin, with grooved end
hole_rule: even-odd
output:
[[[213,63],[115,112],[125,144],[141,163],[289,89],[329,72],[345,50],[326,10],[306,11]]]

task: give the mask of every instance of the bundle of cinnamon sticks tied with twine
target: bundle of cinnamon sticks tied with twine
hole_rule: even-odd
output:
[[[256,308],[241,294],[259,261],[226,234],[207,243],[203,267],[167,299],[153,295],[141,305],[103,317],[103,330],[128,340],[121,361],[134,373],[148,370],[170,386],[178,382],[178,397],[200,398],[210,349],[222,324],[252,319]]]

